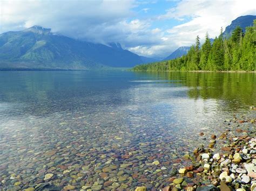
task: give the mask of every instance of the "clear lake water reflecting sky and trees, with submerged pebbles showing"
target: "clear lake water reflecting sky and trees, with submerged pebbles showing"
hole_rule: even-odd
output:
[[[255,73],[0,72],[0,188],[159,188],[251,105]]]

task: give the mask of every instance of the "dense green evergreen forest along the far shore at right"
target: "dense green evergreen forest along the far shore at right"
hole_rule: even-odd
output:
[[[246,28],[243,33],[237,27],[232,36],[226,39],[223,29],[219,37],[211,45],[208,33],[200,47],[200,38],[191,46],[187,55],[180,58],[137,65],[135,71],[167,71],[167,70],[256,70],[256,20],[254,25]]]

